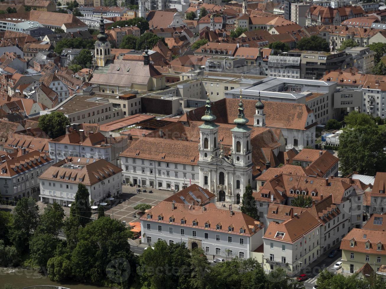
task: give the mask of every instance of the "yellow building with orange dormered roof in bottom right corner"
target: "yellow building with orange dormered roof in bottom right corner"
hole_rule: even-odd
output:
[[[352,229],[340,244],[342,268],[354,273],[369,263],[377,272],[386,262],[386,232],[383,215],[373,215],[362,229]]]

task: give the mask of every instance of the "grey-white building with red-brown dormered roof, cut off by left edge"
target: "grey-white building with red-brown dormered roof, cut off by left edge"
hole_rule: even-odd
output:
[[[1,197],[5,200],[32,197],[40,190],[38,176],[54,163],[46,153],[37,150],[20,150],[19,154],[0,165]]]

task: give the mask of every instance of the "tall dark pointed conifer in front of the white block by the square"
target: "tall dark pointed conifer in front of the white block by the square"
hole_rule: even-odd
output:
[[[77,218],[82,227],[91,221],[90,193],[82,183],[78,184],[75,200],[70,208],[70,216]]]

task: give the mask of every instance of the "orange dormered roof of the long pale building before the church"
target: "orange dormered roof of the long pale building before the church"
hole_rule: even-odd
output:
[[[150,215],[151,218],[147,218],[147,215]],[[158,216],[161,215],[163,216],[163,220],[158,220]],[[208,223],[210,226],[209,228],[205,228],[205,230],[226,232],[227,234],[247,237],[256,234],[256,232],[264,228],[262,223],[242,212],[233,212],[233,215],[230,215],[229,210],[213,208],[213,205],[211,204],[200,207],[162,201],[155,207],[147,210],[146,215],[140,219],[170,224],[170,217],[174,219],[173,223],[176,223],[179,226],[193,227],[194,221],[197,223],[195,227],[204,229],[205,223]],[[186,223],[181,224],[181,220],[186,220]],[[221,229],[217,230],[217,225],[220,225]],[[234,230],[229,232],[229,227],[234,228]],[[240,229],[245,230],[245,233],[240,233]]]

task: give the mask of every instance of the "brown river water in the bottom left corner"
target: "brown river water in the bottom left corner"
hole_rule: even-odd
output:
[[[17,289],[22,289],[29,286],[51,285],[63,286],[70,289],[108,289],[107,287],[99,287],[90,284],[77,282],[53,282],[45,274],[37,270],[21,269],[21,268],[5,268],[0,267],[0,288],[3,288],[5,283],[12,284]]]

